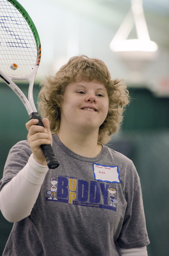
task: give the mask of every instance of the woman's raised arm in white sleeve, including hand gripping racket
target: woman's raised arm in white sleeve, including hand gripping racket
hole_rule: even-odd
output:
[[[41,144],[50,144],[52,142],[49,120],[47,118],[43,119],[44,127],[37,126],[37,122],[37,119],[31,119],[26,123],[28,142],[33,154],[22,170],[16,169],[16,166],[19,168],[19,162],[16,160],[14,163],[15,168],[12,166],[12,162],[8,163],[11,172],[20,171],[0,192],[0,210],[10,222],[18,222],[30,215],[45,174],[48,171],[46,159],[40,146]],[[15,154],[16,159],[18,159],[17,152]],[[24,159],[20,157],[21,162],[22,160]]]

